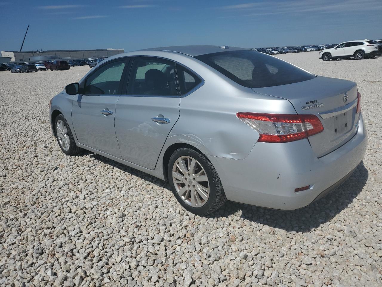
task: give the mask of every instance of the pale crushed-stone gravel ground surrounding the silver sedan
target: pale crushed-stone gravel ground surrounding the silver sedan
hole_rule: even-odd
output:
[[[228,202],[209,217],[185,212],[159,179],[60,151],[49,99],[89,67],[0,72],[0,285],[382,286],[382,57],[279,57],[358,83],[369,136],[363,163],[309,207]]]

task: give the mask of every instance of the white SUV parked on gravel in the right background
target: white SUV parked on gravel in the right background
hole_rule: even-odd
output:
[[[371,56],[378,54],[378,44],[371,44],[367,41],[369,40],[343,42],[334,48],[320,51],[320,59],[324,61],[343,58],[369,59]]]

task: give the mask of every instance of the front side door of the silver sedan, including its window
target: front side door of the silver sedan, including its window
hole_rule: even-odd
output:
[[[121,94],[125,60],[116,60],[95,68],[74,96],[72,121],[82,145],[121,158],[114,129],[115,108]]]

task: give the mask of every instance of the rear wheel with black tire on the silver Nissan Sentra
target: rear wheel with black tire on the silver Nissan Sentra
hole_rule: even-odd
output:
[[[193,171],[189,172],[193,160],[194,168]],[[168,162],[167,174],[176,200],[193,214],[210,214],[222,207],[227,201],[214,166],[208,158],[193,148],[181,147],[175,150]],[[197,174],[206,181],[198,181]],[[201,194],[204,196],[202,197]]]

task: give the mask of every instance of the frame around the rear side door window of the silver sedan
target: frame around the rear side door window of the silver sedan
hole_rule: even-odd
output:
[[[178,72],[176,71],[176,64],[177,62],[171,59],[163,58],[163,57],[155,57],[155,56],[129,56],[130,62],[129,62],[129,73],[128,75],[125,75],[125,80],[123,81],[123,90],[121,96],[128,96],[128,97],[160,97],[160,98],[174,98],[174,97],[180,97],[180,87],[179,87],[179,80],[178,80]],[[127,88],[129,85],[132,68],[133,68],[133,62],[134,60],[152,60],[152,61],[159,61],[162,60],[164,62],[171,62],[174,65],[174,73],[175,73],[175,86],[176,86],[176,93],[177,95],[130,95],[127,93]]]

